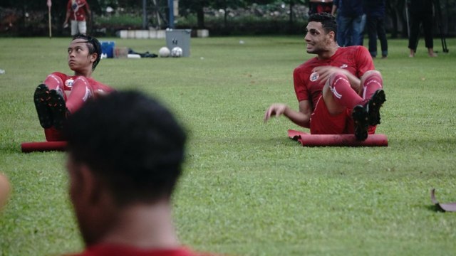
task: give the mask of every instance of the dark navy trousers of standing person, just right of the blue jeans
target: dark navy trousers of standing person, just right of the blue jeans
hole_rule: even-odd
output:
[[[388,41],[386,41],[386,31],[384,18],[368,16],[366,21],[369,36],[369,53],[372,57],[377,56],[377,36],[380,39],[382,56],[388,55]]]

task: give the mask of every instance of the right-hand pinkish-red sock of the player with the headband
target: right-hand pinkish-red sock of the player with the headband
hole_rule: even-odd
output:
[[[91,97],[93,97],[93,90],[87,78],[78,77],[74,80],[73,88],[66,100],[66,108],[73,113]]]

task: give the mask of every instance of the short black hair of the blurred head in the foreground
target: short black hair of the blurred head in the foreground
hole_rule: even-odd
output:
[[[67,151],[103,179],[119,205],[170,198],[186,135],[169,110],[140,92],[112,92],[68,117]]]

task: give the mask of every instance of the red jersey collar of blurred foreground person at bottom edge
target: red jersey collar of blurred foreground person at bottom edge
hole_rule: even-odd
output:
[[[125,245],[93,245],[71,256],[202,256],[184,247],[176,249],[139,249]]]

